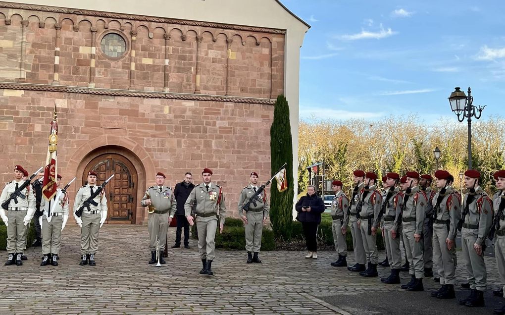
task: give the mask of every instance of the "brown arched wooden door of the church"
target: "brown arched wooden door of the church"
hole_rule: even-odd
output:
[[[130,161],[119,154],[99,155],[86,166],[82,183],[89,171],[98,174],[97,184],[102,184],[112,174],[114,178],[105,186],[107,221],[109,224],[135,224],[137,172]]]

